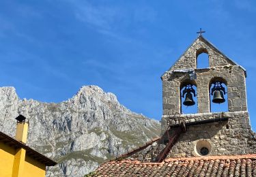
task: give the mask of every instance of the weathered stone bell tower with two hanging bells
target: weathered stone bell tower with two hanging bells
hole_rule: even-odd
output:
[[[197,57],[201,53],[208,54],[209,66],[199,69]],[[161,78],[162,135],[168,131],[169,137],[183,127],[175,144],[170,145],[167,157],[256,152],[256,136],[251,130],[246,103],[246,70],[208,42],[201,33]],[[197,92],[194,94],[195,88]],[[226,100],[223,95],[227,95]],[[193,105],[193,99],[197,98],[196,114],[182,114],[182,96],[186,97],[187,106]],[[213,101],[220,106],[227,101],[228,111],[212,112]],[[168,137],[166,135],[162,144],[169,143],[171,139]]]

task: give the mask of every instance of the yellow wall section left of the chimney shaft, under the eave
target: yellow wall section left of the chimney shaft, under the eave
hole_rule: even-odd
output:
[[[14,148],[0,142],[0,176],[12,176],[12,165],[14,163]]]

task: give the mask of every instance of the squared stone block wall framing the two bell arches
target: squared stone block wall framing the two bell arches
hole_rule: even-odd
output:
[[[244,70],[237,65],[195,69],[196,80],[190,80],[191,71],[173,71],[162,76],[163,115],[180,114],[180,86],[193,83],[197,86],[198,112],[210,112],[210,84],[220,80],[227,85],[230,112],[246,111],[246,87]]]

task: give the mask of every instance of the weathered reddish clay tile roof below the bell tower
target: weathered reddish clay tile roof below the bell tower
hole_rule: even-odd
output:
[[[256,154],[166,159],[162,163],[111,161],[89,176],[256,176]]]

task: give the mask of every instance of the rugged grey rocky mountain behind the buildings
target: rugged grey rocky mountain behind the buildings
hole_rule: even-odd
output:
[[[18,112],[29,119],[27,145],[59,164],[46,176],[83,176],[107,159],[160,134],[160,123],[131,112],[113,93],[83,86],[61,103],[19,99],[0,88],[0,131],[14,137]]]

